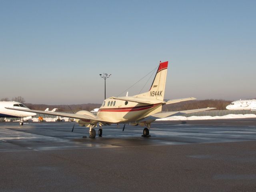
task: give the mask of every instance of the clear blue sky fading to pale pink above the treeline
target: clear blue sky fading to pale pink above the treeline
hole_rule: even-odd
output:
[[[101,103],[100,73],[117,96],[160,60],[166,99],[256,98],[254,0],[0,0],[0,18],[0,98]]]

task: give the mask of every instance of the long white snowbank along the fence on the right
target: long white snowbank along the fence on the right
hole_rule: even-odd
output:
[[[175,121],[175,120],[206,120],[206,119],[237,119],[237,118],[256,118],[255,114],[228,114],[224,116],[191,116],[191,117],[184,117],[184,116],[172,116],[166,117],[162,119],[157,119],[158,121]]]

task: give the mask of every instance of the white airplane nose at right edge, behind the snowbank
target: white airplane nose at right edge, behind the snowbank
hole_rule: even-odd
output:
[[[251,110],[256,111],[256,99],[238,100],[226,106],[228,110]]]

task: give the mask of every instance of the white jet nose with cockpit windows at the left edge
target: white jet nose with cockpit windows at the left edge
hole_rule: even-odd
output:
[[[9,109],[7,109],[9,108]],[[10,109],[11,108],[11,109]],[[13,109],[20,109],[21,111],[16,111]],[[15,101],[0,101],[0,117],[6,118],[20,118],[20,125],[23,125],[23,118],[35,116],[34,112],[25,112],[23,109],[30,110],[24,104]]]

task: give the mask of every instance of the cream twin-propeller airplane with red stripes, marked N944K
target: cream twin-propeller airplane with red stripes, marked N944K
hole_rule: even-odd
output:
[[[192,112],[199,112],[210,110],[214,108],[203,108],[195,110],[177,111],[158,113],[162,111],[162,106],[165,104],[172,104],[182,101],[194,100],[196,98],[183,98],[164,101],[164,90],[166,84],[168,61],[160,62],[156,76],[148,92],[125,97],[110,97],[104,100],[102,106],[99,108],[97,116],[89,111],[78,111],[76,114],[49,112],[39,110],[24,110],[14,109],[26,112],[35,112],[40,114],[49,114],[55,116],[75,118],[80,126],[87,126],[90,128],[90,138],[95,138],[96,131],[94,127],[100,125],[98,130],[99,136],[102,136],[102,126],[110,124],[123,123],[125,128],[126,123],[132,125],[146,126],[143,130],[143,136],[149,136],[150,124],[158,118],[165,118],[174,114],[187,114]],[[13,108],[8,108],[13,109]]]

